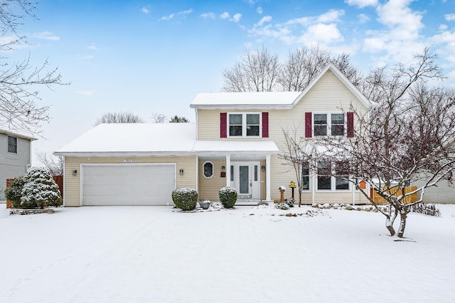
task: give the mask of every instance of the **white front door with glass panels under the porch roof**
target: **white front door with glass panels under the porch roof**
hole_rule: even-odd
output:
[[[241,161],[231,162],[231,186],[237,189],[237,198],[240,200],[259,200],[260,198],[260,162]]]

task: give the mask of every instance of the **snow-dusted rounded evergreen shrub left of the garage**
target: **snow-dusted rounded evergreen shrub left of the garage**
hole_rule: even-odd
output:
[[[23,178],[26,183],[21,192],[21,208],[62,205],[60,189],[47,169],[32,167]]]

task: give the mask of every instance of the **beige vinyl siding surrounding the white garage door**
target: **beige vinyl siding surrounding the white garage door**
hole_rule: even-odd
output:
[[[196,156],[127,157],[132,163],[175,163],[177,187],[196,188]],[[125,157],[65,157],[65,206],[80,206],[80,164],[124,163]],[[77,176],[72,171],[77,170]],[[183,176],[179,171],[183,169]],[[171,193],[169,193],[171,195]]]

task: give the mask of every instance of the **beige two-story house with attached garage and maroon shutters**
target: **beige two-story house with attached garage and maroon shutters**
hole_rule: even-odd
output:
[[[304,92],[200,93],[190,106],[196,123],[100,124],[55,151],[65,156],[64,205],[172,205],[181,187],[218,201],[223,186],[237,189],[238,203],[274,201],[296,181],[279,156],[284,132],[309,142],[350,137],[349,110],[368,115],[372,103],[328,65]],[[327,171],[334,164],[318,165],[302,167],[302,203],[365,203]]]

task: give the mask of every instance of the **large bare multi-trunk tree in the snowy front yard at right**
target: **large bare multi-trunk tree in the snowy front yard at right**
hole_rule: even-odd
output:
[[[405,233],[407,213],[415,203],[423,201],[424,190],[437,185],[441,179],[451,180],[455,169],[455,92],[440,87],[429,89],[425,82],[441,79],[440,68],[434,63],[436,55],[425,49],[416,55],[408,68],[397,65],[391,70],[374,70],[363,83],[365,95],[378,102],[365,117],[355,109],[355,136],[326,139],[324,161],[337,161],[341,170],[363,196],[382,215],[390,235],[400,217],[397,236]],[[359,188],[362,179],[389,206],[379,208],[368,188]],[[413,182],[424,181],[414,191],[406,188]],[[418,193],[417,201],[408,197]]]

